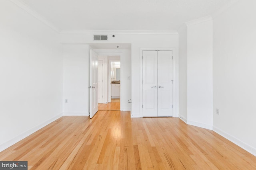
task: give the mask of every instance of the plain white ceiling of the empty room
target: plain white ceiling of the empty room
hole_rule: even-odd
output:
[[[22,1],[62,30],[177,30],[233,0]]]

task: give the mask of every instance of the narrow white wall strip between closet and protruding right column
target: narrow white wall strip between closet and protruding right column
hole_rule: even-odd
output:
[[[187,106],[187,60],[188,60],[188,30],[184,25],[179,29],[179,117],[185,122],[188,119],[188,106]]]

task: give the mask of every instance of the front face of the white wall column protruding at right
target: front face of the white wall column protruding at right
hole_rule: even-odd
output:
[[[187,122],[212,129],[212,19],[187,25]]]

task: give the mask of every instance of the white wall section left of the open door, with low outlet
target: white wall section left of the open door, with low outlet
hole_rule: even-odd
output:
[[[63,45],[63,115],[89,115],[88,55],[89,45]]]

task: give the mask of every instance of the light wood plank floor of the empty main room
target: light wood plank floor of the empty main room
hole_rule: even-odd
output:
[[[63,116],[0,152],[29,169],[253,170],[256,157],[213,131],[179,118],[130,118],[129,111]]]

